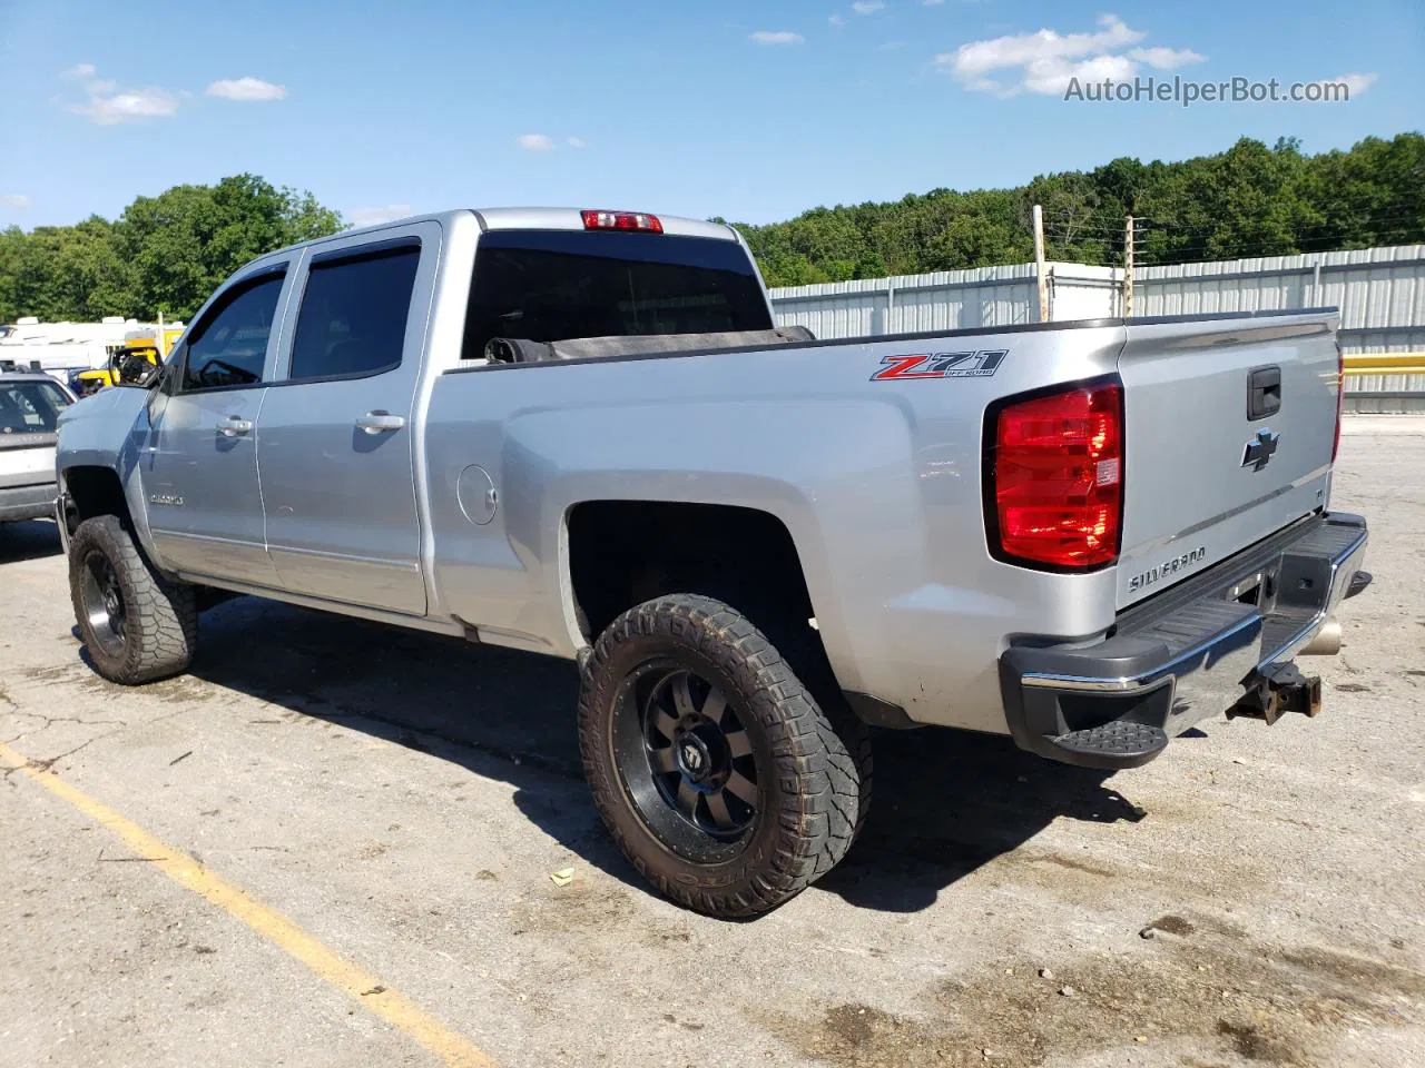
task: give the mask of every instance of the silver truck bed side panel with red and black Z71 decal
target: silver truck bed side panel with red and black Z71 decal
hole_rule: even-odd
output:
[[[792,535],[844,688],[1003,732],[1007,637],[1102,634],[1113,577],[989,557],[982,412],[1112,372],[1121,342],[1121,328],[986,332],[443,375],[426,431],[435,585],[483,638],[573,655],[571,507],[760,508]],[[871,380],[888,357],[980,350],[1006,352],[993,375]],[[486,486],[499,504],[477,524]]]

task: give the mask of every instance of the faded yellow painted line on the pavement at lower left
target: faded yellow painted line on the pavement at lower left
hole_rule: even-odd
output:
[[[31,763],[10,746],[0,743],[0,760],[30,778],[46,790],[68,802],[95,823],[114,832],[134,856],[151,860],[152,866],[185,890],[215,904],[268,941],[311,968],[319,978],[351,994],[362,1008],[388,1024],[453,1068],[496,1068],[494,1061],[456,1034],[400,991],[392,990],[365,968],[332,953],[288,917],[214,874],[182,850],[155,839],[130,819],[107,805],[64,782],[58,775]]]

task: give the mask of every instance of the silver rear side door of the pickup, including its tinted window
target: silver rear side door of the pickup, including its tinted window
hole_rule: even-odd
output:
[[[418,224],[308,259],[259,424],[266,538],[285,590],[426,611],[413,423],[439,236]]]

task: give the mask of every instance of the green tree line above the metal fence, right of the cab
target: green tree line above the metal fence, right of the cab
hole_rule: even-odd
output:
[[[1047,258],[1076,263],[1121,263],[1129,215],[1140,265],[1409,245],[1425,242],[1425,137],[1317,155],[1295,138],[1243,138],[1181,162],[1124,157],[1017,189],[933,189],[734,225],[770,286],[809,285],[1026,263],[1036,204]]]

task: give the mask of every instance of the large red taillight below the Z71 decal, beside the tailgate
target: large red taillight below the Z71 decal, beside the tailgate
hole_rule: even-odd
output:
[[[1119,555],[1123,389],[1080,386],[1000,409],[992,467],[998,555],[1089,568]]]

